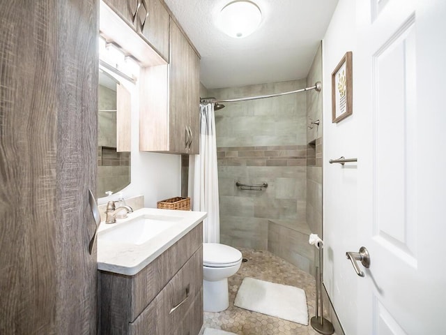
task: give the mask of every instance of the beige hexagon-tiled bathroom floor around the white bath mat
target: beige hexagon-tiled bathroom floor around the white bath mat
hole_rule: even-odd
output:
[[[234,306],[238,288],[245,277],[302,288],[307,295],[309,318],[314,316],[316,296],[316,282],[305,271],[268,251],[254,251],[245,248],[239,248],[239,250],[242,252],[243,258],[248,259],[248,262],[242,263],[237,274],[228,280],[229,308],[220,313],[204,312],[204,327],[222,329],[238,335],[318,335],[319,333],[310,325],[300,325]]]

